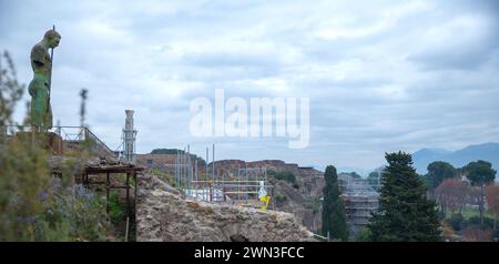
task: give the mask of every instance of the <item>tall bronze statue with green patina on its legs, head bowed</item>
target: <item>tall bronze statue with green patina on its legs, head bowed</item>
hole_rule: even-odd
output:
[[[31,95],[31,125],[37,130],[44,131],[52,128],[52,109],[50,106],[52,58],[49,49],[58,47],[60,41],[61,35],[55,30],[49,30],[43,40],[31,49],[31,68],[34,75],[28,91]]]

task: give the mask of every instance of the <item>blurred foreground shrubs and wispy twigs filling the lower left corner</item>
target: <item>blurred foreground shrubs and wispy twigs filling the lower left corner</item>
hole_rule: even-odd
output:
[[[12,112],[23,85],[7,52],[3,57],[9,68],[0,69],[0,125],[17,125]],[[33,139],[22,130],[10,139],[0,133],[0,241],[104,240],[102,197],[74,185],[74,167],[64,170],[62,180],[53,177],[44,142],[40,133]]]

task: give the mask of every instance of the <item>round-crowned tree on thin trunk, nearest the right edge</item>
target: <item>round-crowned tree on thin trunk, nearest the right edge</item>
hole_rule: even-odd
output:
[[[485,204],[485,185],[493,182],[496,179],[496,170],[488,161],[473,161],[465,166],[466,177],[471,185],[480,187],[480,197],[478,199],[478,209],[480,211],[480,224],[483,224],[483,204]]]

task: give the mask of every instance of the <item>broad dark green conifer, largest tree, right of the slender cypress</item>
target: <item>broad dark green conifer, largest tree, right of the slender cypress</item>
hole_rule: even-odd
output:
[[[413,167],[410,154],[386,154],[378,212],[368,229],[373,241],[439,241],[436,203],[426,197],[426,186]]]

